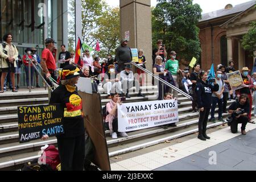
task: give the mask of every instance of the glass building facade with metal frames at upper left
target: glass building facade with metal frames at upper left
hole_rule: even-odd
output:
[[[55,40],[58,52],[61,44],[68,46],[68,0],[1,0],[0,10],[0,37],[13,34],[20,56],[27,47],[35,47],[41,56],[48,37]],[[20,86],[24,75],[22,68]]]

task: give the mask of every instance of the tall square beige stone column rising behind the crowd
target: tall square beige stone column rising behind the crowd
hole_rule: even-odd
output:
[[[143,49],[146,68],[152,72],[152,25],[150,0],[119,0],[121,38],[130,32],[128,46]],[[148,82],[151,82],[148,80]]]

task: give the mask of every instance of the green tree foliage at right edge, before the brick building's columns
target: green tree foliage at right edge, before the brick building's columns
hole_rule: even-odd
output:
[[[253,56],[256,51],[256,21],[250,23],[250,27],[250,30],[243,36],[242,47],[250,51]]]

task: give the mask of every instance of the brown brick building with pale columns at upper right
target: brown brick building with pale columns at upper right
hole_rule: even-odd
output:
[[[255,1],[240,5],[227,5],[225,9],[203,14],[197,26],[200,28],[201,65],[228,65],[235,62],[235,68],[253,68],[254,57],[241,46],[242,36],[247,33],[249,24],[256,19]]]

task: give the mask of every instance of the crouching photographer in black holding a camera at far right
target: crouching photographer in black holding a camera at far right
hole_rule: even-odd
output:
[[[238,123],[242,123],[241,133],[242,135],[246,135],[245,127],[249,121],[248,113],[250,109],[248,100],[247,94],[241,94],[239,100],[234,101],[232,105],[229,106],[229,114],[232,114],[232,121],[229,121],[228,125],[230,125],[232,133],[237,133]]]

